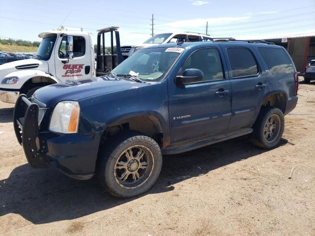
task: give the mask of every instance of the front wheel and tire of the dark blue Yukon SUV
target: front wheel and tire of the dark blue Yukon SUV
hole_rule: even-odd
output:
[[[140,150],[144,154],[136,159]],[[128,155],[132,158],[128,159]],[[162,154],[152,138],[135,131],[122,132],[101,147],[96,168],[100,183],[109,193],[131,198],[148,191],[156,182],[162,168]]]

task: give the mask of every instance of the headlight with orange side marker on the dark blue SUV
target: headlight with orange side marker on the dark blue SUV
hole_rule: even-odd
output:
[[[63,134],[77,133],[79,114],[78,102],[63,101],[58,103],[51,116],[49,130]]]

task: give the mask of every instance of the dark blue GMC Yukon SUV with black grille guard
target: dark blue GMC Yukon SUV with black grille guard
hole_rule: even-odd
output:
[[[95,174],[118,197],[149,190],[162,154],[250,134],[276,147],[298,78],[283,47],[256,42],[169,43],[141,49],[108,75],[20,95],[14,129],[35,168]]]

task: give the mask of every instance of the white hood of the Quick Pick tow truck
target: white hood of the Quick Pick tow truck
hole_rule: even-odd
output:
[[[12,62],[5,63],[0,65],[0,80],[2,80],[6,75],[21,70],[41,70],[44,72],[48,71],[48,63],[46,61],[38,60],[38,59],[24,59],[24,60],[16,60]]]

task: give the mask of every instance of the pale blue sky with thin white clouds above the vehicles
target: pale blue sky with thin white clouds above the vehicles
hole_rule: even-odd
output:
[[[119,26],[121,42],[139,44],[155,33],[208,32],[239,39],[315,35],[315,0],[0,0],[0,37],[39,41],[60,25]]]

